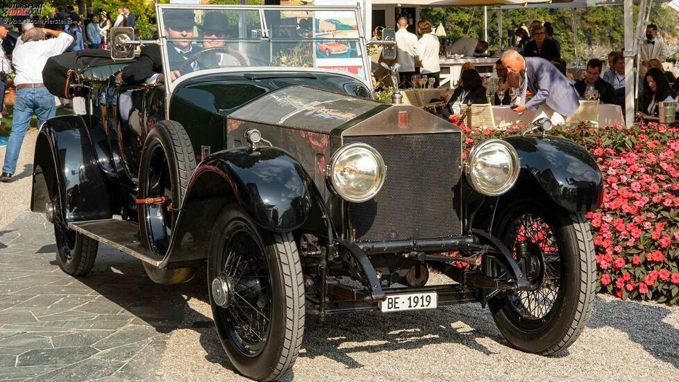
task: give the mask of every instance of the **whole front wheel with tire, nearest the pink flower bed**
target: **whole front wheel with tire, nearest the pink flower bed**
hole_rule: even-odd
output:
[[[514,194],[498,211],[496,234],[517,260],[530,258],[534,286],[489,299],[498,329],[517,349],[551,356],[578,338],[594,305],[594,242],[582,213],[548,198]],[[524,263],[524,265],[526,264]],[[535,264],[539,264],[537,270]]]

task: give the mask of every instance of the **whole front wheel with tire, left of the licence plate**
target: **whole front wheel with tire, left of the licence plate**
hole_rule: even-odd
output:
[[[213,281],[228,283],[230,302]],[[208,251],[210,306],[219,339],[238,372],[258,381],[282,378],[304,332],[304,285],[292,233],[257,226],[237,204],[217,218]]]

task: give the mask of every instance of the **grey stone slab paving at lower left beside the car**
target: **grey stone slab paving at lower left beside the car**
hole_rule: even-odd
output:
[[[0,381],[155,379],[183,317],[182,287],[154,284],[139,260],[105,246],[76,279],[55,251],[41,215],[0,229]]]

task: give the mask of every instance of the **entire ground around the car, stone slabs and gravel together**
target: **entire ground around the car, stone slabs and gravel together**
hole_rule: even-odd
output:
[[[101,245],[92,272],[74,278],[55,251],[42,215],[0,228],[0,381],[244,381],[217,338],[204,271],[156,285],[139,260]],[[551,358],[509,347],[480,304],[308,315],[304,335],[286,381],[679,381],[679,307],[604,295]]]

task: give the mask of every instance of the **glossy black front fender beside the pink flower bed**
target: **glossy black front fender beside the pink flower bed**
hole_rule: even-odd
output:
[[[603,176],[583,147],[564,138],[535,135],[504,139],[519,154],[521,172],[530,174],[557,204],[585,213],[603,199]]]

